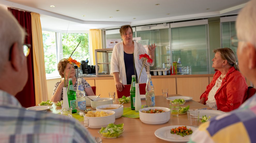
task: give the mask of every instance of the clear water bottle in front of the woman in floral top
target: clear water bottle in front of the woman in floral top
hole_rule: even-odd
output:
[[[77,81],[77,108],[81,110],[86,110],[85,90],[82,85],[82,78],[78,78]],[[77,111],[77,114],[79,114],[79,112],[80,111]]]

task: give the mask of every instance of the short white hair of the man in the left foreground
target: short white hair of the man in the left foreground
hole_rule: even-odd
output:
[[[25,30],[16,18],[6,9],[0,7],[0,63],[9,60],[11,46],[16,42],[20,48],[24,43]],[[20,51],[23,51],[20,49]],[[0,71],[3,70],[0,66]]]

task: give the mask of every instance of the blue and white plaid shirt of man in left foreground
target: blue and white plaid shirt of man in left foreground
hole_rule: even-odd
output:
[[[0,142],[95,142],[78,121],[62,115],[28,111],[0,90]]]

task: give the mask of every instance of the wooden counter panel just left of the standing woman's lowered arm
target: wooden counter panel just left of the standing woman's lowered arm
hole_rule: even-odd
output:
[[[114,79],[96,79],[95,86],[96,95],[100,94],[100,97],[109,97],[109,92],[116,92]]]

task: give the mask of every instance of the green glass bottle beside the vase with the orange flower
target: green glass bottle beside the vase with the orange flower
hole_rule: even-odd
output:
[[[72,113],[76,113],[77,97],[72,83],[72,78],[69,78],[69,86],[67,87],[67,99],[69,100],[69,107],[72,108]]]

